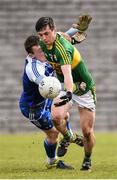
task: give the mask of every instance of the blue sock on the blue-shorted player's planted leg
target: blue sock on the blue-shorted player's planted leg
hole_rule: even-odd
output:
[[[47,139],[45,139],[44,148],[48,158],[56,158],[56,147],[57,147],[57,143],[49,144]]]

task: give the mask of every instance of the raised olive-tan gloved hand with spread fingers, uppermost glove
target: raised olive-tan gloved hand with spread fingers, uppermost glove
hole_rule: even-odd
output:
[[[90,15],[81,15],[79,16],[78,22],[73,24],[72,27],[78,29],[79,32],[84,32],[88,29],[91,20],[92,17]]]

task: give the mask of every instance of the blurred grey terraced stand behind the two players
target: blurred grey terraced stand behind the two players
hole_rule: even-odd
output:
[[[0,132],[38,131],[19,110],[24,41],[35,31],[41,16],[55,19],[66,31],[80,14],[93,20],[87,39],[77,48],[84,57],[97,87],[95,131],[117,130],[117,0],[0,0]],[[72,127],[79,127],[74,105]]]

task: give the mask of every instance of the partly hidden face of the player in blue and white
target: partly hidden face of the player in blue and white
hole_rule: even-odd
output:
[[[45,55],[41,49],[40,46],[38,45],[35,45],[32,47],[32,51],[33,51],[33,57],[35,57],[36,59],[40,60],[40,61],[45,61],[46,58],[45,58]]]

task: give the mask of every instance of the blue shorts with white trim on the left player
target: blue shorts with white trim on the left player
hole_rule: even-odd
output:
[[[20,110],[22,114],[30,120],[35,126],[42,130],[48,130],[53,127],[51,117],[52,100],[46,100],[36,108],[30,108],[26,103],[20,103]],[[31,118],[30,118],[31,117]]]

